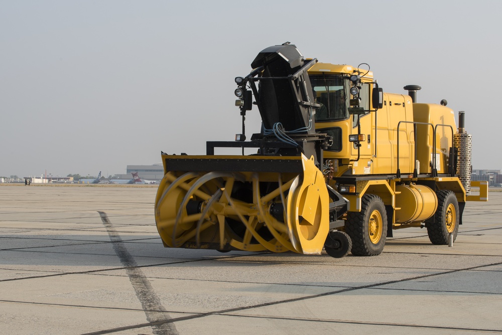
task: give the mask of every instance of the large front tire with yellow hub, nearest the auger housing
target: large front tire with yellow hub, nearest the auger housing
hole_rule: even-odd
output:
[[[387,211],[374,194],[364,195],[360,212],[348,212],[345,232],[352,239],[352,255],[380,255],[387,239]]]

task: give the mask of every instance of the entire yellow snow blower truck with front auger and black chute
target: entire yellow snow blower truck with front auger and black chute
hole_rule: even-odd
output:
[[[206,155],[162,152],[155,220],[166,247],[373,256],[394,229],[452,243],[465,202],[487,201],[488,184],[470,181],[464,113],[456,129],[446,100],[417,103],[417,85],[384,93],[367,64],[319,63],[289,43],[251,67],[235,78],[234,141],[208,141]],[[261,131],[245,141],[254,105]],[[242,154],[214,153],[223,147]]]

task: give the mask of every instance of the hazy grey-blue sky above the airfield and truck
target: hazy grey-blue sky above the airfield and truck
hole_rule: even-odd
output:
[[[241,130],[234,77],[289,41],[368,63],[386,92],[466,112],[474,169],[502,169],[500,1],[0,0],[0,176],[124,174]],[[246,133],[258,132],[258,110]],[[218,152],[216,152],[218,153]]]

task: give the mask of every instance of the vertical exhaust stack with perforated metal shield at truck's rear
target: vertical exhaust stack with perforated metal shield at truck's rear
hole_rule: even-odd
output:
[[[470,193],[472,135],[465,131],[465,112],[458,112],[458,132],[453,135],[453,145],[458,150],[457,175],[466,194]]]

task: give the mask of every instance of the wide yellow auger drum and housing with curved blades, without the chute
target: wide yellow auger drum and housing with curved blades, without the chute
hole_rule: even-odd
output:
[[[155,220],[166,247],[321,252],[329,198],[313,158],[162,158]]]

